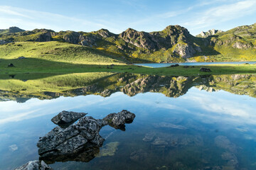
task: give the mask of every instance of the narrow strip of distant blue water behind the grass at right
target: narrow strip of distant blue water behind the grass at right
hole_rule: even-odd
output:
[[[210,64],[255,64],[256,62],[181,62],[181,63],[143,63],[143,64],[134,64],[139,66],[146,66],[146,67],[169,67],[173,64],[179,65],[188,65],[188,66],[197,66],[197,65],[210,65]]]

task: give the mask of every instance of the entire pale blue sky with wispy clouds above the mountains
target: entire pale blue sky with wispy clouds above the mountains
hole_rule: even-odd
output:
[[[0,0],[0,29],[90,32],[159,31],[180,25],[192,35],[256,23],[256,0]]]

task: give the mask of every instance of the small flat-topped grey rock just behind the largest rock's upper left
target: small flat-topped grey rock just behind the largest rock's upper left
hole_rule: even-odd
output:
[[[87,115],[87,113],[77,113],[73,111],[62,111],[55,115],[51,121],[56,125],[60,125],[60,127],[65,127],[66,124],[74,123],[76,120],[82,118]]]

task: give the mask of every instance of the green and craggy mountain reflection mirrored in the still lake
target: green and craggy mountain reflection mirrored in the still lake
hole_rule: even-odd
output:
[[[0,80],[0,101],[26,102],[29,98],[51,99],[59,96],[110,96],[122,91],[128,96],[156,92],[168,97],[186,94],[188,89],[224,90],[232,94],[256,96],[255,74],[208,75],[198,77],[167,77],[143,74],[86,73],[68,74],[22,81]],[[5,86],[5,84],[11,86]]]

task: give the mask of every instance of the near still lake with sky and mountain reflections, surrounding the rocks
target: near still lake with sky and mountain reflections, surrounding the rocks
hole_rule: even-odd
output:
[[[0,169],[38,155],[61,111],[95,119],[127,110],[102,147],[45,160],[53,169],[256,169],[256,75],[85,73],[0,80]],[[64,159],[65,158],[65,159]]]

